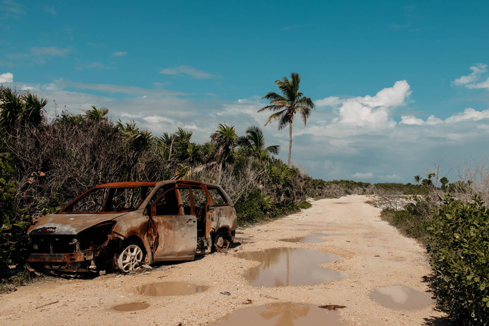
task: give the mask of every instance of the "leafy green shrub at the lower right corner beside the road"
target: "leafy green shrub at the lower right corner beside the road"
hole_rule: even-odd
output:
[[[489,324],[489,211],[479,196],[464,203],[445,196],[427,230],[434,277],[443,311],[463,325]]]

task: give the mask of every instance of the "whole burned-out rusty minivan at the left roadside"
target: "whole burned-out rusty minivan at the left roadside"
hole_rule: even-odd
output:
[[[221,186],[167,180],[94,186],[57,213],[34,221],[27,261],[87,272],[192,260],[234,240],[236,211]]]

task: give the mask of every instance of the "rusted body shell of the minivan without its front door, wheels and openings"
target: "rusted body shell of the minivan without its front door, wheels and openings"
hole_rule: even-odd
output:
[[[124,188],[124,187],[144,187],[153,186],[153,189],[148,193],[144,200],[141,200],[140,206],[136,210],[132,211],[117,211],[117,212],[69,212],[76,202],[83,196],[89,194],[91,191],[95,191],[97,188]],[[150,204],[150,200],[156,194],[156,191],[162,187],[168,187],[164,190],[156,200]],[[42,236],[48,235],[70,235],[73,237],[73,242],[69,243],[76,248],[68,253],[53,253],[52,249],[50,253],[32,253],[27,261],[42,262],[52,265],[53,268],[63,269],[65,271],[89,271],[95,270],[95,260],[98,256],[102,255],[107,248],[118,248],[125,240],[131,240],[140,242],[146,251],[145,262],[152,264],[153,254],[156,251],[156,241],[158,240],[158,230],[155,228],[156,223],[153,220],[154,213],[156,213],[156,202],[168,191],[172,189],[189,189],[190,196],[190,215],[197,219],[195,201],[192,188],[200,188],[203,190],[207,203],[205,205],[205,232],[201,243],[196,244],[197,250],[194,250],[196,255],[205,255],[212,251],[213,237],[215,234],[222,234],[229,241],[234,240],[234,233],[236,230],[236,211],[234,205],[224,192],[221,186],[210,183],[203,183],[197,181],[177,181],[167,180],[160,182],[120,182],[95,186],[88,191],[84,192],[80,196],[71,201],[65,208],[58,213],[49,214],[40,218],[37,223],[31,226],[28,230],[28,234],[31,238],[42,238]],[[225,204],[214,204],[212,196],[209,192],[209,188],[218,189],[227,200]],[[182,207],[182,201],[180,198],[180,192],[176,191],[178,202],[178,215],[184,215],[184,208]],[[106,201],[109,199],[106,198]],[[107,208],[108,203],[105,203]],[[72,215],[73,214],[73,215]],[[61,216],[60,216],[61,215]],[[73,216],[72,218],[69,218]],[[87,220],[89,220],[87,222]],[[94,223],[92,222],[94,220]],[[92,224],[89,225],[89,222]],[[195,222],[194,222],[195,223]],[[109,227],[110,230],[104,229]],[[97,229],[98,228],[98,229]],[[197,224],[195,226],[197,228]],[[102,240],[96,245],[89,248],[80,247],[80,237],[89,231],[95,233],[95,231],[101,232],[97,236],[104,236]],[[106,235],[105,231],[107,231]],[[178,232],[178,230],[165,229],[165,231]],[[94,235],[95,236],[95,235]],[[82,240],[83,241],[83,240]],[[195,238],[196,242],[199,239]],[[102,242],[102,243],[100,243]],[[116,244],[116,245],[114,245]],[[83,243],[82,243],[83,245]],[[52,244],[51,244],[52,247]],[[67,248],[68,249],[68,248]],[[170,257],[171,258],[171,257]],[[192,258],[193,259],[193,255]],[[159,260],[167,260],[161,259]],[[170,259],[173,260],[173,259]]]

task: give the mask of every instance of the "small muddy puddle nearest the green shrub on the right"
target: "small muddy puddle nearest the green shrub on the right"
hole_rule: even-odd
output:
[[[429,294],[403,285],[379,287],[370,291],[370,299],[391,309],[422,309],[433,302]]]

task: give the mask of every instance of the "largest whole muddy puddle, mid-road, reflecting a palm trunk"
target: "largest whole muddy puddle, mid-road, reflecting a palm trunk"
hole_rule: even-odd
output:
[[[235,256],[261,262],[243,274],[251,286],[315,285],[348,277],[344,272],[318,266],[341,260],[343,257],[316,250],[272,248]]]

